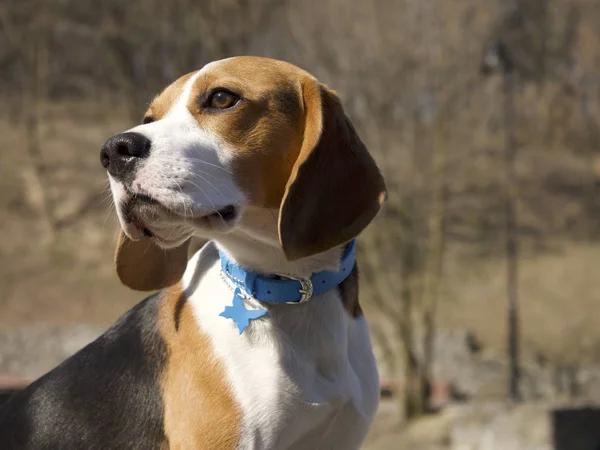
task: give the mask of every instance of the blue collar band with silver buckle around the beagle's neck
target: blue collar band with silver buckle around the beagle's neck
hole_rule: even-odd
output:
[[[352,272],[356,262],[355,241],[352,240],[336,272],[316,272],[310,278],[299,279],[284,275],[259,275],[238,266],[223,252],[219,252],[221,269],[231,282],[249,297],[272,303],[303,303],[313,295],[323,294],[338,286]]]

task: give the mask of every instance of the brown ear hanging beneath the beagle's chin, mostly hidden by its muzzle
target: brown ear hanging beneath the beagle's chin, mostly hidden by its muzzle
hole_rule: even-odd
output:
[[[188,239],[179,247],[163,249],[150,239],[132,241],[119,236],[115,265],[121,282],[136,291],[156,291],[181,280],[188,261]]]

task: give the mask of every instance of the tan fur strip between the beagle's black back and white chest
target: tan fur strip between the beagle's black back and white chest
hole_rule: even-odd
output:
[[[177,322],[177,327],[176,327]],[[165,291],[159,328],[167,345],[164,429],[169,450],[235,449],[242,412],[181,286]]]

